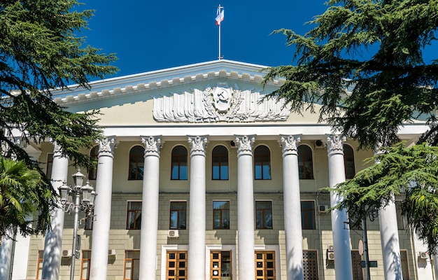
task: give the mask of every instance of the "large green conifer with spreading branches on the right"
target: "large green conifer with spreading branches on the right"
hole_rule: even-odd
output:
[[[438,156],[438,59],[425,61],[423,52],[437,41],[438,1],[330,0],[309,24],[313,29],[304,35],[274,31],[295,47],[295,64],[267,69],[264,83],[285,78],[272,95],[291,102],[292,111],[315,111],[320,104],[320,121],[360,148],[383,146],[372,159],[379,165],[333,189],[346,197],[339,207],[359,214],[360,221],[364,205],[384,207],[390,193],[408,190],[403,213],[432,251],[438,244],[437,219],[424,215],[437,213],[438,172],[423,165]],[[400,125],[414,119],[430,125],[418,145],[391,147],[400,141]]]

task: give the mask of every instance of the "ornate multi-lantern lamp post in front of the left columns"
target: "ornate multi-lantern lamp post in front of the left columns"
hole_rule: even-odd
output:
[[[94,209],[94,198],[97,195],[88,181],[85,186],[82,186],[84,178],[85,175],[80,172],[80,169],[78,169],[78,172],[73,174],[73,187],[66,186],[65,182],[59,187],[62,210],[66,213],[74,214],[70,280],[74,279],[75,260],[76,258],[79,259],[79,248],[76,248],[76,246],[78,246],[79,212],[84,212],[85,216],[90,216],[92,214],[92,210]],[[70,195],[71,200],[69,200]]]

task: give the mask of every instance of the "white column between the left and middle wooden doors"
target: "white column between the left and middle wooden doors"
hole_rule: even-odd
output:
[[[188,279],[205,278],[205,148],[207,136],[189,136],[190,200]]]

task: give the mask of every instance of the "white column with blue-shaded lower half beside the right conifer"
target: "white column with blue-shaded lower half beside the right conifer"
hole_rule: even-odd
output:
[[[327,135],[327,151],[329,158],[330,187],[345,181],[344,144],[345,138],[339,135]],[[330,206],[335,207],[344,197],[330,193]],[[334,245],[334,269],[336,280],[353,279],[351,267],[350,229],[346,209],[333,210],[332,235]]]

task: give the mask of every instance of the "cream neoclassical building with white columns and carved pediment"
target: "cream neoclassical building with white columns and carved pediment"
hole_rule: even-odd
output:
[[[263,87],[263,68],[222,59],[53,94],[69,111],[99,109],[105,136],[83,151],[97,158],[81,172],[98,195],[80,219],[75,279],[366,279],[363,232],[327,211],[342,197],[321,189],[351,179],[373,151],[263,99],[284,83]],[[413,144],[425,130],[409,123],[400,138]],[[73,183],[77,167],[56,144],[26,148],[55,189]],[[401,198],[367,223],[372,279],[434,279]],[[52,232],[3,241],[0,279],[69,279],[72,242],[73,216],[58,209]]]

